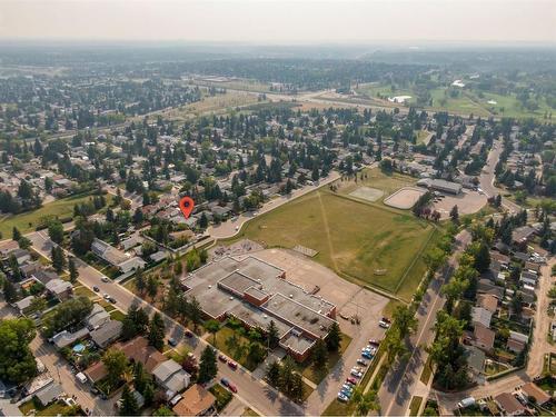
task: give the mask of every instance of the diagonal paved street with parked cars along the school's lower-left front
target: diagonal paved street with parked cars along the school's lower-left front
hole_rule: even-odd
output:
[[[31,240],[33,249],[44,257],[50,258],[53,242],[44,232],[37,231],[27,235],[27,237]],[[91,266],[79,260],[77,264],[79,281],[89,288],[97,286],[99,287],[100,294],[108,294],[112,296],[118,301],[116,305],[118,308],[127,311],[131,305],[137,305],[145,308],[149,314],[153,314],[157,310],[150,304],[137,297],[122,286],[111,281],[102,282],[102,274]],[[186,328],[163,312],[161,312],[161,315],[166,324],[167,337],[173,337],[177,340],[180,340],[180,342],[192,349],[195,355],[199,358],[202,349],[207,346],[207,342],[199,338],[185,338],[183,334]],[[222,376],[234,381],[238,388],[238,396],[244,403],[248,404],[251,408],[259,410],[264,415],[277,416],[305,414],[302,407],[290,401],[266,383],[255,378],[246,369],[240,368],[234,371],[227,366],[219,366],[218,378],[221,378]]]

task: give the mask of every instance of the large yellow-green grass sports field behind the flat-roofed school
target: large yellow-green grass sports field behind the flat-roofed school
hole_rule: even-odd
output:
[[[433,231],[410,214],[319,190],[252,219],[235,240],[247,237],[285,248],[302,245],[317,250],[314,259],[342,278],[396,294],[420,281],[423,274],[406,271]],[[411,282],[400,286],[403,279]]]

